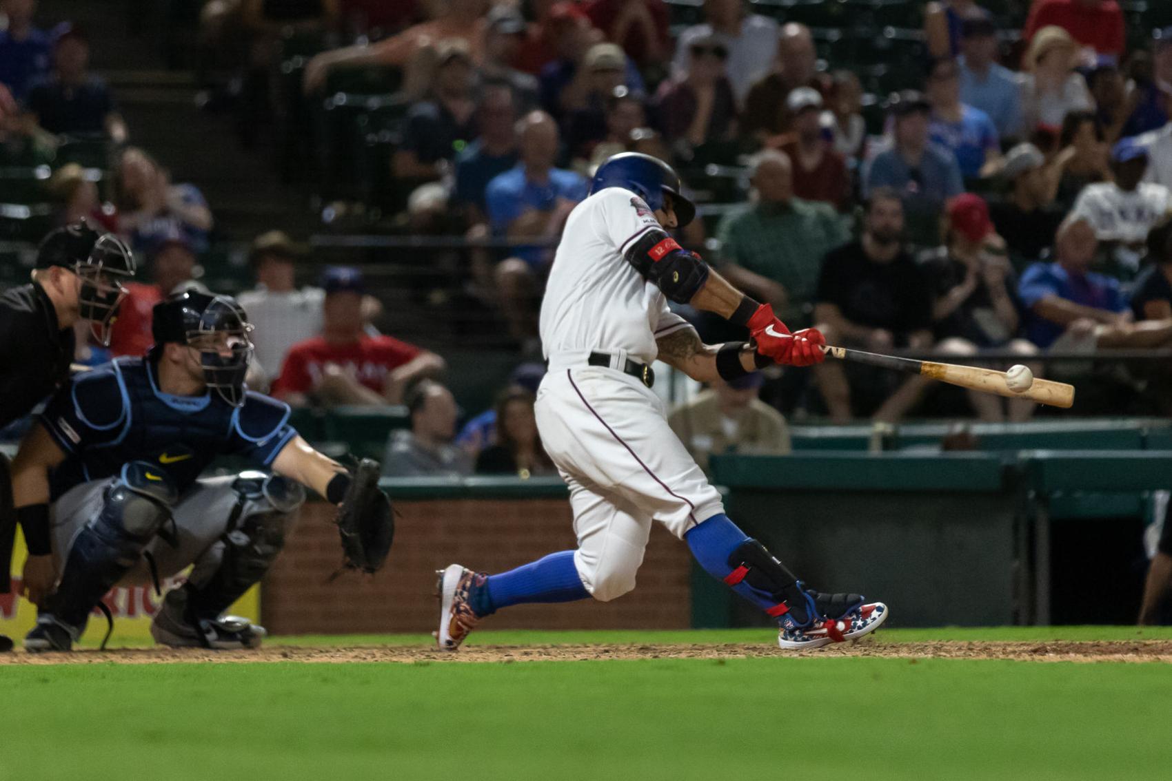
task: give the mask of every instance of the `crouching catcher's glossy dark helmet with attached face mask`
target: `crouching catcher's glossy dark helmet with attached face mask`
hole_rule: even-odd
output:
[[[244,378],[252,361],[252,324],[229,295],[184,290],[155,304],[155,350],[168,342],[199,350],[204,382],[232,406],[244,405]]]

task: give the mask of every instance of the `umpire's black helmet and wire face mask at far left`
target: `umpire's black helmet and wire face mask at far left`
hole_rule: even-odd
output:
[[[81,280],[79,314],[94,336],[110,343],[110,327],[127,292],[122,282],[135,275],[135,258],[113,233],[98,233],[86,220],[50,231],[36,251],[36,267],[68,268]]]

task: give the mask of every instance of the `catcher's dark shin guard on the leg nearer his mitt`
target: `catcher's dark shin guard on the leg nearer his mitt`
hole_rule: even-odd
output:
[[[232,489],[238,499],[227,532],[182,587],[195,619],[216,618],[265,576],[305,502],[299,482],[263,472],[243,472]]]

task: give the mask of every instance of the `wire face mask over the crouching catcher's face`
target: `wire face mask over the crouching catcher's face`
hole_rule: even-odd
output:
[[[230,296],[213,296],[193,324],[186,331],[188,347],[199,351],[207,388],[232,406],[244,406],[244,378],[252,361],[252,324],[244,309]]]

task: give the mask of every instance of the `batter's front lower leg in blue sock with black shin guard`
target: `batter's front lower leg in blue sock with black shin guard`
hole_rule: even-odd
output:
[[[683,539],[704,571],[778,623],[804,626],[815,617],[813,600],[802,583],[728,515],[713,515],[689,529]]]

